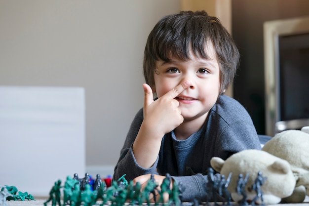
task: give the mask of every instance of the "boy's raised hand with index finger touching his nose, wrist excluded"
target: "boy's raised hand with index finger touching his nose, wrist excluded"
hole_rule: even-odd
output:
[[[143,84],[145,92],[144,121],[154,128],[154,132],[161,137],[183,123],[184,118],[178,108],[179,102],[174,98],[190,85],[190,81],[183,81],[154,101],[153,90],[148,84]]]

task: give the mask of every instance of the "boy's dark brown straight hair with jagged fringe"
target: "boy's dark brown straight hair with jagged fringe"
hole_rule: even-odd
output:
[[[149,34],[145,51],[143,73],[154,86],[155,63],[176,57],[188,60],[190,51],[208,59],[207,42],[211,41],[220,67],[221,93],[233,81],[239,62],[239,51],[220,20],[205,11],[181,11],[163,17]]]

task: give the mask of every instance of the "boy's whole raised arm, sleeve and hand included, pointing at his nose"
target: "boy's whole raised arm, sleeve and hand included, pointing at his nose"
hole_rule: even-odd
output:
[[[180,117],[179,115],[173,118],[169,117],[169,115],[175,116],[173,113],[171,113],[172,104],[170,102],[174,102],[174,104],[178,103],[177,100],[170,98],[173,96],[176,97],[179,93],[181,93],[189,86],[190,82],[184,81],[181,84],[177,85],[174,89],[163,95],[164,98],[162,98],[162,96],[160,99],[154,101],[153,93],[150,86],[147,84],[143,85],[145,90],[144,107],[146,106],[146,109],[144,108],[144,111],[140,110],[131,124],[124,145],[121,149],[119,160],[115,166],[113,176],[114,180],[117,180],[125,173],[127,174],[126,178],[129,180],[142,174],[157,173],[156,163],[159,149],[161,146],[161,140],[165,133],[169,132],[169,129],[170,131],[174,129],[173,124],[175,124],[175,121],[173,120],[173,118],[180,118],[181,120],[180,123],[177,123],[176,126],[178,126],[178,124],[181,124],[183,121],[180,113]],[[165,106],[164,104],[167,104],[167,106]],[[163,116],[163,118],[160,116]],[[150,129],[148,129],[147,127],[149,127]],[[154,128],[156,128],[157,131],[161,131],[161,133],[159,134],[157,131],[154,130]],[[154,135],[157,135],[157,137],[155,137]],[[149,156],[151,156],[151,160],[148,159]],[[146,163],[146,165],[145,163],[143,164],[143,161],[149,163]]]

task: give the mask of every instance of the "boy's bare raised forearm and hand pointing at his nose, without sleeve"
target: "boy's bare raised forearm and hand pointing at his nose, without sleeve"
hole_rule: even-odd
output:
[[[144,120],[133,143],[133,153],[138,165],[150,168],[154,165],[163,136],[183,123],[184,118],[174,98],[191,85],[183,81],[156,101],[148,84],[143,84],[145,92]]]

